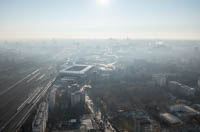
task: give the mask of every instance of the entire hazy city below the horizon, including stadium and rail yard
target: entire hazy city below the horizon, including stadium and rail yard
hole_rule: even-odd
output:
[[[199,41],[0,46],[1,131],[200,131]]]

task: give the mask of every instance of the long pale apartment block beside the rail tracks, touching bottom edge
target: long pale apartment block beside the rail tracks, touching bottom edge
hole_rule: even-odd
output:
[[[42,102],[32,123],[32,132],[45,132],[48,120],[48,104]]]

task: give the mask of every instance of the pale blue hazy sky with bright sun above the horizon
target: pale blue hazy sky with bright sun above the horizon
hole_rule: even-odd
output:
[[[0,39],[200,39],[200,0],[0,0]]]

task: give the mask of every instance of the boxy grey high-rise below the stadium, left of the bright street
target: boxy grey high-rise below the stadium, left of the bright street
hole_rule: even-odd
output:
[[[71,106],[75,106],[79,103],[85,103],[85,93],[83,91],[76,91],[71,93]]]

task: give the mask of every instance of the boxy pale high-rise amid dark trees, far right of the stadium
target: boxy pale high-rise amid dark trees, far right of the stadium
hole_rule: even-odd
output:
[[[155,82],[155,85],[160,86],[160,87],[166,86],[167,77],[165,74],[155,74],[152,76],[152,78]]]

